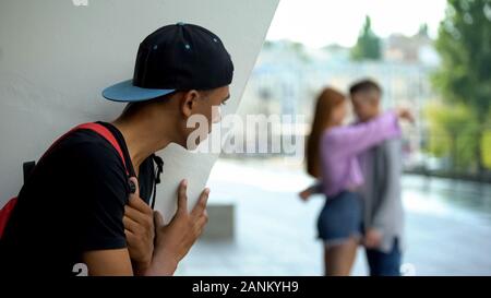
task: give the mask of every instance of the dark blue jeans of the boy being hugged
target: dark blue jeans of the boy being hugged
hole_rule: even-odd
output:
[[[370,266],[370,276],[400,276],[402,253],[397,239],[388,253],[375,249],[366,249]]]

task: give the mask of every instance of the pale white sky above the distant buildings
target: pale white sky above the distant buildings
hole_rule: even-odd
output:
[[[309,47],[355,45],[364,16],[376,35],[414,35],[427,23],[435,37],[446,0],[280,0],[268,40],[290,39]]]

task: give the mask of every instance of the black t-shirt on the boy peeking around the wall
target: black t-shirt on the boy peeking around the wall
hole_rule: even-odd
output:
[[[112,132],[131,165],[122,134],[99,123]],[[139,170],[140,195],[147,203],[154,177],[148,157]],[[128,175],[112,145],[91,130],[72,132],[39,160],[19,193],[0,240],[0,272],[72,274],[85,251],[125,248],[122,217],[129,194]]]

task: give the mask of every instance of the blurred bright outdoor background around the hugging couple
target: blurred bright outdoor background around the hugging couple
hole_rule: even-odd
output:
[[[302,116],[288,136],[304,142],[321,90],[360,79],[381,84],[384,108],[416,116],[404,127],[403,272],[491,275],[491,1],[282,0],[238,114]],[[233,135],[267,148],[251,129]],[[223,154],[211,222],[178,274],[322,275],[324,199],[299,200],[313,181],[301,157]],[[367,274],[361,249],[354,274]]]

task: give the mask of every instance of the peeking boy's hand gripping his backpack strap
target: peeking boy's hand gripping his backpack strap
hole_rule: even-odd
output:
[[[154,213],[140,198],[136,178],[131,177],[130,182],[134,184],[135,192],[130,194],[129,203],[124,206],[123,224],[134,273],[140,275],[152,262],[155,238]]]

